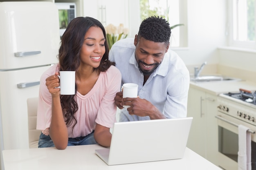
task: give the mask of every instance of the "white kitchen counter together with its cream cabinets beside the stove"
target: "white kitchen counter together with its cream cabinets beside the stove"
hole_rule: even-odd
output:
[[[218,106],[222,106],[218,95],[239,92],[239,88],[255,91],[256,82],[245,80],[190,82],[187,115],[193,117],[193,124],[187,147],[217,166],[223,166],[218,152],[218,119],[215,117],[220,114]]]

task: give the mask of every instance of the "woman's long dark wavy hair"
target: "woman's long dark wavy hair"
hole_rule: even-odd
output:
[[[108,60],[109,47],[106,31],[101,22],[91,17],[77,17],[68,24],[67,29],[61,38],[61,47],[58,54],[60,71],[77,71],[80,65],[80,51],[84,42],[85,33],[92,26],[101,28],[106,39],[106,52],[101,59],[99,67],[94,68],[94,70],[99,69],[99,71],[106,71],[111,65],[115,65],[115,62],[110,62],[110,60]],[[61,107],[63,115],[66,118],[66,125],[71,126],[74,123],[72,130],[77,123],[75,113],[78,110],[78,105],[75,95],[61,95]]]

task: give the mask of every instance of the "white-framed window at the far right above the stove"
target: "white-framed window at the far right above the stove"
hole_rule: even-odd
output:
[[[229,46],[256,50],[255,0],[228,0]]]

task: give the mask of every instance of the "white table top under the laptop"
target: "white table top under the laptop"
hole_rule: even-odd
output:
[[[221,170],[189,148],[183,159],[108,166],[94,152],[99,145],[3,150],[5,170]]]

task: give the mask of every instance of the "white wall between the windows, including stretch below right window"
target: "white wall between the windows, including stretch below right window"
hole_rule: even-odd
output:
[[[227,1],[188,1],[188,49],[174,49],[193,73],[204,61],[207,73],[255,82],[256,51],[227,47]],[[208,70],[207,70],[208,69]]]

